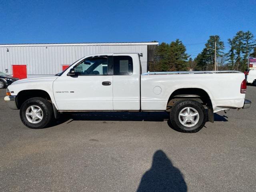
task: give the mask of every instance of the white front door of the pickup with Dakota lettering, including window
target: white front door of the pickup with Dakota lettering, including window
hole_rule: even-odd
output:
[[[74,66],[74,76],[62,74],[53,83],[58,110],[113,110],[112,68],[112,56],[91,57]]]

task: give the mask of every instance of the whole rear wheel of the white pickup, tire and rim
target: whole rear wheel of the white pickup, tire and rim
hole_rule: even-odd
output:
[[[204,106],[195,100],[180,100],[171,109],[170,121],[180,132],[198,132],[207,120]]]

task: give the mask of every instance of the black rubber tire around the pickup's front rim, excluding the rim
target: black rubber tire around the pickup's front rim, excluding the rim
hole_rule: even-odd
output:
[[[43,117],[39,123],[33,124],[29,122],[28,119],[26,118],[26,110],[30,106],[39,106],[42,109]],[[20,108],[20,119],[22,123],[28,128],[32,128],[32,129],[45,128],[51,122],[53,114],[54,113],[53,113],[52,104],[50,104],[48,100],[40,97],[34,97],[26,100]]]

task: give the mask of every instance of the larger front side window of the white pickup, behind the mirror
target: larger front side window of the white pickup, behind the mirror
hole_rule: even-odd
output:
[[[77,75],[107,75],[108,58],[88,58],[78,64],[74,69]]]

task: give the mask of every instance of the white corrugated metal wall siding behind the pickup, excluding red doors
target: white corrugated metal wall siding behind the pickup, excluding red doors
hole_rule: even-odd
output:
[[[110,52],[143,53],[142,72],[147,72],[147,45],[6,45],[0,47],[0,71],[8,69],[8,74],[12,74],[12,65],[25,64],[28,77],[52,75],[62,71],[61,65],[70,65],[87,55]]]

